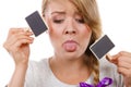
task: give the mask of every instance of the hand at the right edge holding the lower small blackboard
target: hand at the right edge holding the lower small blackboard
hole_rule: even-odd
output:
[[[123,75],[126,87],[131,87],[131,53],[121,51],[116,55],[107,55],[107,59],[117,65],[118,73]]]

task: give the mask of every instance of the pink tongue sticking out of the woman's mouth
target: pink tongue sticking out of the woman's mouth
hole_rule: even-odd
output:
[[[66,49],[66,51],[68,51],[68,52],[73,52],[73,51],[75,51],[76,50],[76,42],[66,42],[64,45],[63,45],[63,48]]]

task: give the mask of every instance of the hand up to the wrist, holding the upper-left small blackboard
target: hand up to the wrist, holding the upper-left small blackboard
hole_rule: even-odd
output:
[[[24,28],[11,28],[3,47],[13,57],[15,65],[24,65],[28,62],[29,44],[33,42],[33,33]]]

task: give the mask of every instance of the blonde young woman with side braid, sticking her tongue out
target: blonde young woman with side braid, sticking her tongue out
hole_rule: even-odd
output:
[[[96,0],[43,0],[41,14],[55,53],[28,63],[33,33],[11,28],[3,45],[15,63],[9,87],[96,87],[104,77],[112,79],[110,87],[131,87],[130,52],[98,61],[88,49],[102,35]]]

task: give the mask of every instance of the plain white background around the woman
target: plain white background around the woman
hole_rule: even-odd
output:
[[[102,16],[103,30],[115,42],[111,54],[120,50],[131,52],[131,0],[97,0]],[[1,0],[0,1],[0,87],[9,80],[14,70],[14,63],[3,49],[10,27],[27,27],[25,16],[38,10],[41,0]],[[48,34],[35,38],[31,45],[31,60],[38,61],[52,54]]]

